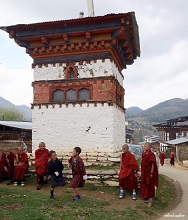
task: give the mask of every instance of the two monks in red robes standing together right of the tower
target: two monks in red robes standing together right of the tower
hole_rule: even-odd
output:
[[[125,189],[133,191],[132,199],[137,199],[136,188],[139,170],[138,162],[129,152],[128,145],[123,145],[119,173],[120,199],[124,197]],[[151,144],[145,143],[141,162],[141,197],[146,203],[152,203],[156,188],[158,188],[157,161],[155,154],[151,151]]]

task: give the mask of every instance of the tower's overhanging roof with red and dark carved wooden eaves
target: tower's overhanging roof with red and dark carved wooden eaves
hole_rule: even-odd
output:
[[[119,69],[140,56],[134,12],[0,27],[39,64],[113,59]]]

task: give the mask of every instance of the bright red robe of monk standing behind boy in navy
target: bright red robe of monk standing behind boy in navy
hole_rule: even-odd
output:
[[[38,175],[45,175],[47,172],[47,167],[48,167],[48,160],[49,160],[49,151],[48,149],[44,150],[36,150],[35,151],[35,169],[36,173]]]

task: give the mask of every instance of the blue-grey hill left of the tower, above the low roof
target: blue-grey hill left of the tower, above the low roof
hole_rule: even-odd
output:
[[[16,109],[22,113],[25,121],[32,121],[31,108],[26,105],[14,105],[8,100],[0,97],[0,108]]]

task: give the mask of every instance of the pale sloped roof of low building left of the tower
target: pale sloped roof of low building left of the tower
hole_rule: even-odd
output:
[[[25,122],[25,121],[0,121],[0,125],[31,130],[32,129],[32,122]]]

